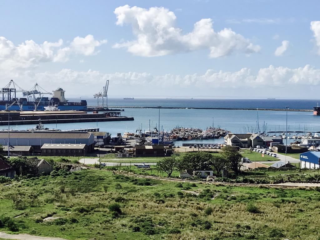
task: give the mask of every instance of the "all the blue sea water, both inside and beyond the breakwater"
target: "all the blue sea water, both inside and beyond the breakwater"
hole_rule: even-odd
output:
[[[70,99],[71,101],[71,99]],[[90,100],[94,101],[94,100]],[[88,105],[90,104],[88,100]],[[317,100],[234,100],[234,99],[109,99],[109,106],[158,106],[163,107],[220,107],[220,108],[290,108],[312,109]],[[92,102],[93,105],[93,102]],[[100,131],[116,133],[136,132],[153,129],[158,124],[158,109],[153,108],[124,108],[122,116],[133,116],[134,121],[45,124],[47,128],[61,130],[99,127]],[[176,126],[196,127],[205,129],[214,125],[230,132],[254,132],[258,128],[267,131],[285,131],[285,111],[257,111],[257,110],[209,110],[209,109],[160,109],[160,127],[171,130]],[[13,125],[13,129],[27,129],[33,125]],[[157,126],[158,127],[158,126]],[[4,126],[1,128],[5,128]],[[288,111],[288,131],[320,131],[320,116],[313,116],[312,112]],[[212,142],[213,140],[210,140]],[[217,140],[215,140],[216,142]],[[221,140],[220,140],[221,141]]]

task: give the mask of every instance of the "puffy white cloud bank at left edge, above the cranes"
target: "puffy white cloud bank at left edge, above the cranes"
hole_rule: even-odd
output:
[[[13,72],[18,69],[34,68],[41,62],[66,62],[70,54],[92,55],[95,48],[106,43],[96,41],[92,35],[76,37],[69,46],[63,47],[63,40],[37,44],[33,40],[15,46],[10,40],[0,36],[0,70]]]

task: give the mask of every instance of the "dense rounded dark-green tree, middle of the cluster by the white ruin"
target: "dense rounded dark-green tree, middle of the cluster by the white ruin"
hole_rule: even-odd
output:
[[[206,170],[209,168],[209,162],[211,159],[212,154],[208,152],[187,153],[181,157],[178,168],[180,170]]]

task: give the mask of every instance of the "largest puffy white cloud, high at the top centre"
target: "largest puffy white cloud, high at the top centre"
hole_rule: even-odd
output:
[[[260,51],[259,45],[253,45],[230,28],[215,32],[211,19],[201,19],[191,32],[183,34],[182,29],[175,27],[175,14],[164,7],[144,9],[124,5],[116,8],[114,13],[116,24],[130,24],[136,39],[116,43],[113,47],[127,48],[134,55],[153,57],[210,49],[209,56],[217,58],[232,52],[250,54]]]

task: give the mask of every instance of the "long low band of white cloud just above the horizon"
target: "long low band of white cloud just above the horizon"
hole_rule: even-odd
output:
[[[1,73],[0,73],[1,79]],[[56,88],[63,85],[64,89],[76,94],[90,94],[100,90],[105,81],[109,79],[114,93],[121,87],[124,94],[143,88],[151,91],[156,86],[158,89],[166,90],[170,94],[175,94],[182,90],[185,93],[192,93],[195,90],[208,94],[212,91],[237,91],[239,89],[260,89],[263,87],[274,88],[294,88],[294,86],[305,87],[320,85],[320,69],[310,65],[301,68],[275,67],[260,68],[253,74],[249,68],[242,68],[236,72],[224,72],[208,69],[204,74],[192,75],[152,75],[150,73],[102,73],[99,71],[74,71],[62,69],[60,72],[33,73],[26,71],[24,74],[16,76],[15,81],[30,84],[38,82],[46,88]],[[20,84],[22,85],[22,84]],[[169,88],[168,85],[174,86]],[[23,87],[23,86],[22,86]],[[171,92],[170,92],[171,91]],[[249,90],[250,91],[250,90]],[[255,91],[255,90],[254,90]],[[151,91],[152,92],[152,91]],[[119,94],[119,93],[117,93]]]

